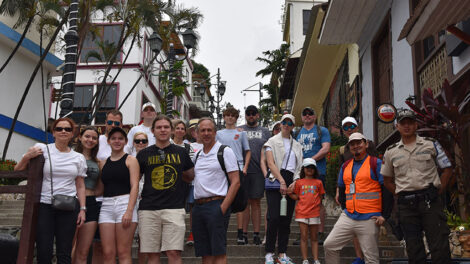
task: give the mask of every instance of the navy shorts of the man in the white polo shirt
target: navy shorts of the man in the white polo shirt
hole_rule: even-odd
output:
[[[197,257],[226,254],[230,208],[223,215],[222,201],[194,204],[192,230]]]

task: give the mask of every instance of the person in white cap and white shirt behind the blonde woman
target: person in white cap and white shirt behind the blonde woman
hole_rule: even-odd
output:
[[[127,148],[131,151],[129,154],[132,156],[136,156],[136,151],[134,148],[134,134],[137,132],[144,132],[147,134],[147,138],[149,140],[148,146],[155,145],[155,136],[152,132],[152,122],[157,117],[157,112],[155,105],[151,102],[147,102],[142,106],[142,113],[141,117],[143,119],[142,124],[134,126],[129,130],[127,133]]]

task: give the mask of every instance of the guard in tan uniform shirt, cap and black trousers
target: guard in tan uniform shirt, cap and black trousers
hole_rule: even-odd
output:
[[[414,112],[404,109],[397,120],[401,140],[385,151],[380,172],[385,187],[398,196],[409,263],[426,262],[423,231],[432,262],[451,263],[449,227],[439,194],[446,189],[452,164],[437,141],[416,134],[418,123]],[[443,171],[440,178],[437,167]]]

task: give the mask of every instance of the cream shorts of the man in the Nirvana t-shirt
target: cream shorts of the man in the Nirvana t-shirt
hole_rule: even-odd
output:
[[[184,209],[139,210],[141,253],[184,249]]]

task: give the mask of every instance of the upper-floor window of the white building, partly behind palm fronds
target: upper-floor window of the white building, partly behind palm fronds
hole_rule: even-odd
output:
[[[80,53],[80,62],[106,62],[113,55],[112,47],[116,47],[121,35],[121,24],[95,25],[95,36],[89,32],[83,41]],[[96,54],[97,53],[97,54]],[[90,56],[96,54],[95,56]],[[116,62],[121,60],[122,53],[116,57]],[[97,58],[99,57],[99,58]]]

